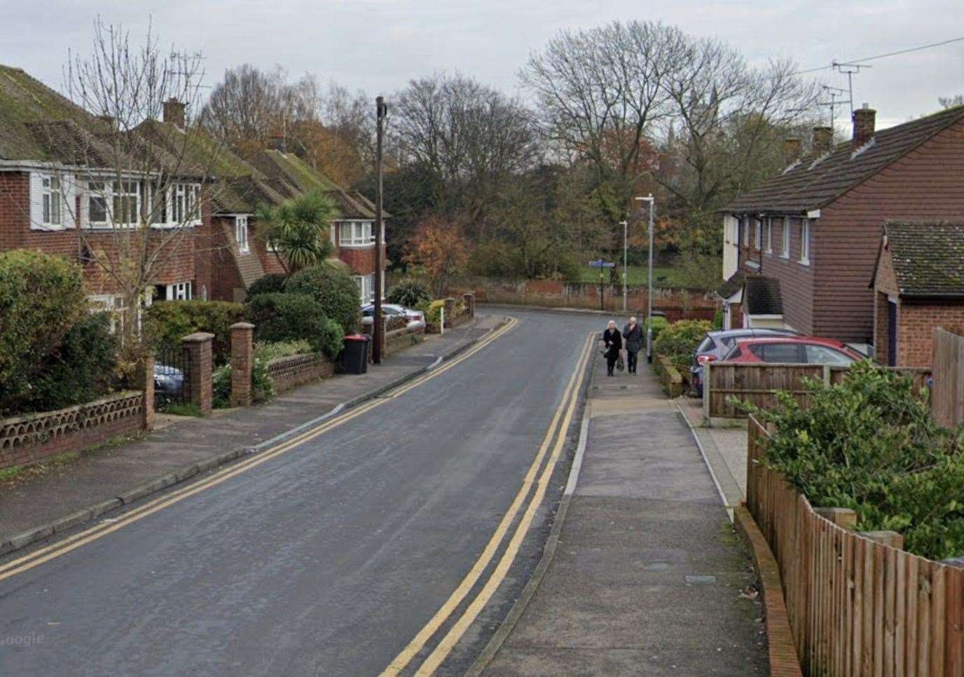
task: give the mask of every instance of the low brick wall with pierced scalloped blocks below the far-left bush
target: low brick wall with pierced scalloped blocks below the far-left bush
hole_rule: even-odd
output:
[[[0,468],[94,447],[145,427],[144,393],[127,391],[42,414],[0,420]]]

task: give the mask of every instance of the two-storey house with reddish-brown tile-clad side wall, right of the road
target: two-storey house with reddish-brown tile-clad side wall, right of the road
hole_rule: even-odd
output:
[[[870,349],[884,223],[964,221],[964,107],[879,131],[874,119],[866,105],[854,111],[852,138],[836,147],[817,127],[806,155],[789,139],[783,173],[723,209],[727,327],[778,323]],[[747,311],[750,278],[770,281],[779,317]]]

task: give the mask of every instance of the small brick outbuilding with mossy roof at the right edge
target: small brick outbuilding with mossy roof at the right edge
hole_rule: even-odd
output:
[[[931,366],[934,327],[964,334],[964,224],[886,224],[870,286],[877,362]]]

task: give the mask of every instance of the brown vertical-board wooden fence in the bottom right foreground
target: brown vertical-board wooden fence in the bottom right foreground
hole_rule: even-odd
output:
[[[808,675],[964,675],[964,570],[910,555],[821,517],[760,464],[749,420],[747,507],[780,567]]]

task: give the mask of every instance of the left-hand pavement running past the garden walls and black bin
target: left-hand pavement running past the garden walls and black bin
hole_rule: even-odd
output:
[[[147,491],[147,485],[160,490],[216,467],[228,460],[226,455],[236,457],[305,421],[323,416],[339,404],[375,396],[399,380],[417,375],[440,357],[465,349],[501,321],[501,315],[477,315],[473,322],[442,336],[430,335],[425,341],[392,354],[382,365],[369,366],[366,374],[335,375],[282,393],[264,405],[217,412],[208,419],[161,415],[158,418],[168,424],[142,439],[82,453],[77,460],[51,467],[42,474],[28,473],[0,483],[0,555],[13,536],[88,510],[102,501],[134,500],[139,493],[134,490]],[[103,510],[97,514],[100,512]],[[80,521],[74,518],[70,526]],[[40,531],[37,535],[50,534]],[[29,542],[14,545],[22,547]],[[11,549],[8,543],[6,552]]]

